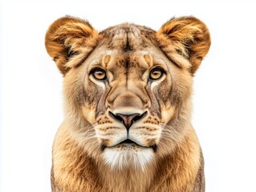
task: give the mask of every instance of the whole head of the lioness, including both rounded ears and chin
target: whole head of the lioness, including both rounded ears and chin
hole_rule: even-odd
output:
[[[171,153],[185,135],[192,76],[209,43],[196,18],[170,20],[158,32],[123,24],[97,33],[78,18],[54,22],[46,46],[64,74],[75,141],[112,169],[144,170]]]

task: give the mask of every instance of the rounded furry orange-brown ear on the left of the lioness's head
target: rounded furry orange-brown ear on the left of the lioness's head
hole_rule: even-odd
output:
[[[62,74],[76,66],[95,47],[98,32],[82,19],[66,16],[57,19],[47,30],[45,46]]]

